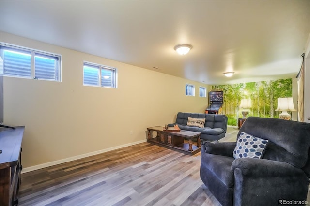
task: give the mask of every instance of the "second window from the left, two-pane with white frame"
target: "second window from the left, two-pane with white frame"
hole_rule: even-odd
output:
[[[116,88],[116,69],[104,65],[84,62],[83,85]]]

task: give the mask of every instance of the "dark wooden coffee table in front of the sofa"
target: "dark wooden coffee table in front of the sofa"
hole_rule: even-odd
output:
[[[147,142],[162,147],[166,147],[169,149],[173,149],[175,151],[179,151],[188,155],[194,155],[200,151],[201,132],[192,132],[187,130],[181,130],[180,132],[165,132],[163,129],[164,127],[161,126],[148,127]],[[151,137],[151,132],[153,131],[157,132],[155,138]],[[188,143],[184,142],[185,138],[189,139]],[[193,138],[197,138],[197,146],[193,145],[192,143]]]

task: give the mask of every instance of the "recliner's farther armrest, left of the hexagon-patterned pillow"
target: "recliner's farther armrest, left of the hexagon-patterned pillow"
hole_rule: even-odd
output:
[[[223,155],[233,157],[233,150],[236,147],[235,142],[202,142],[202,153],[209,153],[215,155]]]

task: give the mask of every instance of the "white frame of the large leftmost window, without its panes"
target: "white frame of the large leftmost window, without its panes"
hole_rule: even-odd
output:
[[[4,50],[9,50],[11,52],[18,52],[18,53],[25,54],[25,55],[29,54],[31,56],[31,60],[30,60],[30,76],[22,76],[22,75],[18,75],[18,74],[17,75],[16,74],[5,74],[4,68],[3,68],[3,76],[24,78],[24,79],[46,80],[46,81],[54,81],[54,82],[61,82],[62,81],[62,55],[52,53],[52,52],[32,49],[32,48],[28,48],[28,47],[24,47],[24,46],[19,46],[19,45],[15,45],[15,44],[8,44],[8,43],[0,42],[0,55],[3,59],[3,62],[5,61]],[[50,59],[55,60],[55,67],[54,67],[55,78],[54,79],[38,78],[35,76],[35,74],[36,74],[36,66],[35,66],[36,57],[39,57],[39,58],[50,57]],[[38,70],[38,68],[37,68],[37,70]]]

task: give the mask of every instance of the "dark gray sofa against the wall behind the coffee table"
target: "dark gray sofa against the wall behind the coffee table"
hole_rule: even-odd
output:
[[[205,118],[204,127],[186,126],[188,117]],[[178,124],[181,130],[201,132],[202,140],[219,140],[225,137],[227,130],[227,117],[225,115],[203,114],[203,113],[185,113],[179,112],[175,123],[168,124],[169,127]]]

